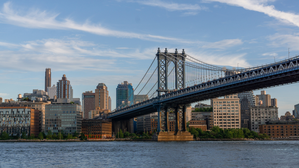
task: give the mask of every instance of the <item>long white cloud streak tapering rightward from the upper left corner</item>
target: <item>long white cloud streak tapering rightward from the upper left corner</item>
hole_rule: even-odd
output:
[[[11,8],[10,2],[6,2],[3,5],[3,9],[0,12],[0,22],[16,25],[24,28],[39,28],[39,29],[59,29],[59,30],[80,30],[88,33],[93,33],[101,36],[114,36],[118,38],[137,38],[150,41],[170,41],[180,43],[198,44],[200,42],[190,41],[186,39],[177,39],[172,37],[156,36],[150,34],[139,34],[132,32],[124,32],[118,30],[110,30],[99,24],[90,24],[88,22],[80,24],[72,21],[71,19],[64,19],[60,22],[56,20],[59,14],[47,13],[46,11],[31,11],[26,14],[16,12]]]

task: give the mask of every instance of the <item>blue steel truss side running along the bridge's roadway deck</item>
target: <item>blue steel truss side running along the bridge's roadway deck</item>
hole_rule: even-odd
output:
[[[294,63],[295,62],[295,63]],[[287,65],[289,63],[289,65]],[[285,64],[285,65],[284,65]],[[199,85],[194,85],[188,88],[184,88],[175,92],[171,92],[168,94],[161,95],[159,98],[152,98],[150,100],[138,103],[133,106],[126,107],[124,109],[117,110],[115,112],[111,112],[108,114],[108,117],[113,117],[118,114],[122,114],[123,112],[130,112],[135,109],[143,108],[149,105],[153,105],[154,103],[162,103],[167,100],[185,96],[191,93],[195,93],[198,91],[205,91],[217,87],[222,87],[226,85],[231,85],[234,83],[239,83],[247,80],[257,79],[261,77],[267,77],[273,74],[279,74],[290,70],[297,70],[298,69],[298,58],[293,60],[288,60],[286,62],[280,62],[274,65],[269,65],[267,67],[262,67],[258,69],[253,69],[251,71],[245,71],[240,74],[231,75],[224,78],[219,78],[218,80],[213,80],[210,82],[202,83]],[[274,68],[273,68],[274,67]]]

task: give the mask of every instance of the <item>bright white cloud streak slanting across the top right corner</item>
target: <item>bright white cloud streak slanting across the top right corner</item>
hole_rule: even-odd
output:
[[[262,12],[282,22],[291,23],[299,27],[298,14],[292,12],[279,11],[276,10],[273,5],[265,4],[266,2],[275,1],[275,0],[205,0],[205,1],[217,1],[232,6],[243,7],[244,9],[247,10]]]

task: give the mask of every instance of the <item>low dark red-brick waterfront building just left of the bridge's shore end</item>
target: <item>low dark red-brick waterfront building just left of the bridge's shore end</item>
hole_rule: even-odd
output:
[[[83,119],[82,132],[85,136],[111,138],[112,137],[112,121],[104,118]]]

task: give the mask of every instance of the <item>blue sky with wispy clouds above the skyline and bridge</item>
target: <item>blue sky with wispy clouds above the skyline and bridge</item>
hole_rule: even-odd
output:
[[[1,1],[0,97],[44,89],[51,68],[52,85],[65,74],[80,100],[105,83],[114,109],[117,85],[135,88],[158,47],[227,67],[284,59],[299,54],[298,6],[295,0]],[[264,89],[277,98],[279,115],[299,103],[298,86]]]

